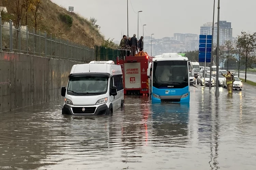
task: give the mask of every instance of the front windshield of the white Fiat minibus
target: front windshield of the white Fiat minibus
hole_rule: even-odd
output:
[[[101,95],[108,90],[106,76],[71,76],[69,78],[67,94],[69,95]]]

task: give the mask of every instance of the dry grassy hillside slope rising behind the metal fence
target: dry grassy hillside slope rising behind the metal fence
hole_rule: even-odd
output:
[[[12,19],[14,22],[16,15],[16,8],[14,2],[18,0],[2,0],[2,6],[6,6],[8,14],[2,13],[2,20],[9,21]],[[21,3],[22,0],[20,0]],[[30,8],[35,8],[31,5]],[[25,25],[26,15],[25,9],[22,11],[22,19],[20,23]],[[38,20],[40,20],[37,30],[41,32],[46,31],[47,34],[57,35],[57,37],[69,39],[76,43],[81,43],[89,47],[93,45],[101,45],[104,42],[104,36],[100,30],[96,28],[89,19],[83,18],[79,14],[67,11],[66,8],[58,6],[51,0],[41,0],[41,5],[38,8]],[[34,17],[31,9],[28,10],[27,25],[30,29],[35,27]]]

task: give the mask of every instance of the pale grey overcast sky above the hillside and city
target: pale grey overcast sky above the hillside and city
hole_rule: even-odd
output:
[[[127,0],[52,0],[66,8],[74,6],[74,12],[86,18],[97,18],[97,24],[106,38],[120,40],[127,35]],[[217,22],[217,1],[215,22]],[[231,22],[233,37],[241,31],[256,31],[256,1],[221,0],[220,20]],[[133,8],[132,8],[133,7]],[[128,0],[129,36],[155,34],[156,38],[172,37],[173,33],[200,33],[200,26],[212,22],[213,0]],[[136,12],[134,12],[133,11]],[[137,36],[138,37],[138,36]]]

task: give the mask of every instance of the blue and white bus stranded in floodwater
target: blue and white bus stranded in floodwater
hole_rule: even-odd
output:
[[[194,70],[191,70],[194,75]],[[177,53],[153,58],[147,69],[152,103],[189,103],[189,61]]]

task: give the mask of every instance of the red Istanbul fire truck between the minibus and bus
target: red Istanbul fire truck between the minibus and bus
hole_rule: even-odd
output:
[[[153,57],[146,52],[139,52],[136,56],[127,56],[125,60],[117,57],[117,64],[121,65],[123,71],[124,94],[141,95],[148,94],[148,64]]]

